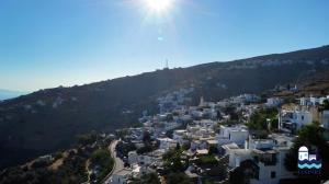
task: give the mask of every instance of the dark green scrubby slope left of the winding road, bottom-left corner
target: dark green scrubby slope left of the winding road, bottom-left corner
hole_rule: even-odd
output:
[[[70,150],[57,152],[54,159],[38,158],[32,162],[0,172],[1,184],[80,184],[100,182],[113,168],[113,159],[107,150],[110,139],[100,138],[94,133],[81,137],[98,137],[87,145],[78,145]],[[90,164],[89,163],[90,160]],[[89,172],[92,174],[89,176]]]

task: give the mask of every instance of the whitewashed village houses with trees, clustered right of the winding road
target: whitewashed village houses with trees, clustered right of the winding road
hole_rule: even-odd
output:
[[[235,183],[247,166],[251,170],[243,180],[249,183],[276,184],[296,177],[284,162],[298,130],[313,124],[329,129],[329,110],[324,108],[329,95],[291,102],[241,94],[184,105],[191,92],[159,97],[159,114],[145,111],[139,127],[117,130],[116,156],[124,166],[107,183]]]

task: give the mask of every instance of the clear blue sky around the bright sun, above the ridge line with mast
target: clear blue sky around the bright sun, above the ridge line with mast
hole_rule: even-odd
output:
[[[34,91],[329,44],[327,0],[1,0],[0,89]]]

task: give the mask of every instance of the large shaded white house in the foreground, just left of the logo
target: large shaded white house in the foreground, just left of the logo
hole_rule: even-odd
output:
[[[282,179],[294,177],[284,166],[285,156],[292,145],[288,143],[291,138],[285,135],[270,135],[269,137],[269,139],[250,137],[246,149],[238,149],[235,145],[223,146],[226,154],[229,156],[230,168],[239,166],[246,160],[257,165],[256,176],[250,179],[251,184],[277,184]]]

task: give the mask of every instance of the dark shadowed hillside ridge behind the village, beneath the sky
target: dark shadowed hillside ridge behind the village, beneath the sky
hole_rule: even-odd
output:
[[[261,93],[277,84],[328,77],[329,46],[190,68],[163,69],[72,88],[34,92],[0,103],[0,168],[68,148],[75,136],[114,131],[136,123],[156,99],[193,87],[196,101]],[[126,114],[124,111],[132,113]]]

